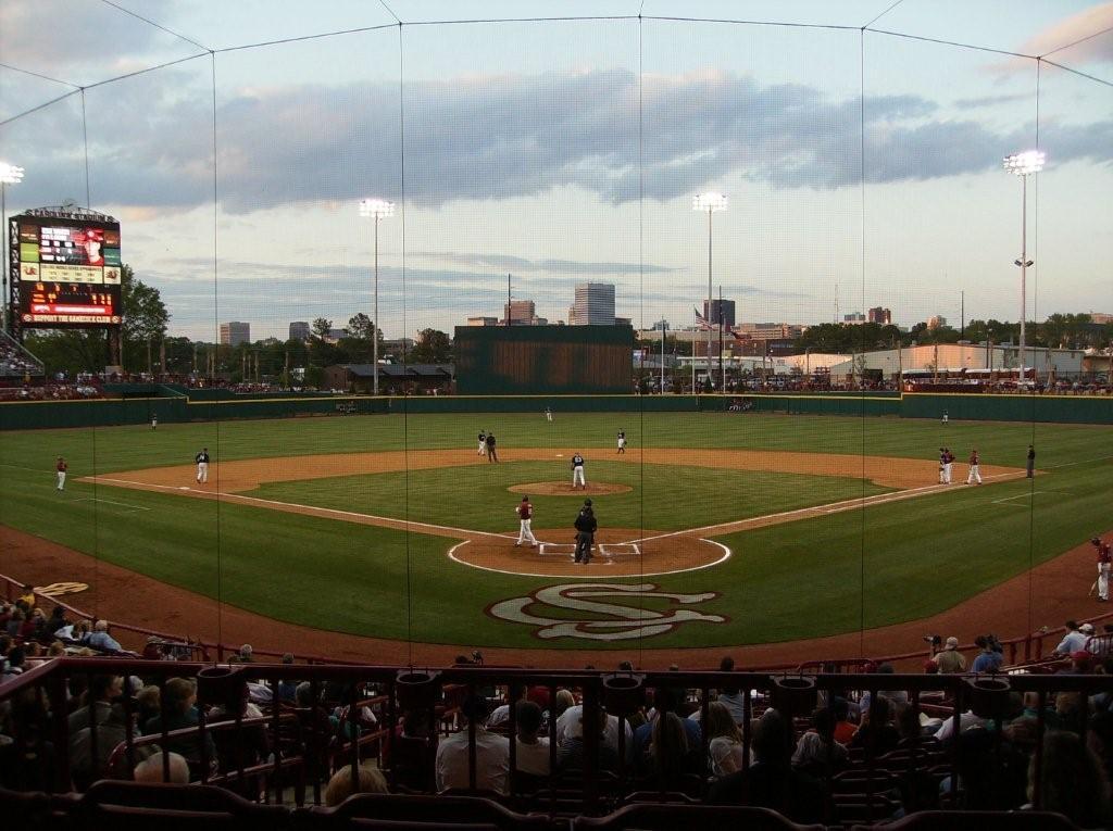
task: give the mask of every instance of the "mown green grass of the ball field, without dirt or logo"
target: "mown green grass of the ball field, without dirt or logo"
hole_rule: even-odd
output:
[[[1113,432],[1107,427],[984,422],[943,427],[896,418],[559,410],[552,425],[540,415],[395,415],[164,425],[157,432],[129,426],[6,433],[0,435],[0,522],[293,623],[440,643],[630,649],[631,642],[541,641],[529,626],[491,619],[484,614],[490,603],[562,581],[457,565],[445,557],[451,540],[76,481],[91,473],[188,464],[201,445],[217,461],[470,448],[480,428],[494,429],[500,447],[581,447],[593,479],[634,488],[601,497],[604,522],[661,531],[835,502],[861,495],[863,483],[699,469],[686,467],[682,454],[672,465],[608,462],[620,428],[636,447],[934,458],[946,443],[959,459],[976,446],[985,463],[1015,466],[1023,465],[1027,444],[1036,443],[1037,466],[1047,473],[1034,482],[956,485],[939,495],[723,537],[720,542],[735,552],[727,563],[647,581],[668,591],[718,592],[699,610],[726,615],[729,622],[687,624],[646,640],[646,646],[787,641],[916,620],[1110,526]],[[65,494],[53,489],[58,454],[71,466],[73,481]],[[964,471],[961,465],[956,473]],[[504,463],[275,484],[258,494],[510,531],[519,497],[506,487],[565,475],[563,463]],[[575,502],[539,497],[536,504],[539,526],[550,525],[550,513],[560,517],[551,524],[562,526]],[[1090,568],[1089,558],[1082,565]]]

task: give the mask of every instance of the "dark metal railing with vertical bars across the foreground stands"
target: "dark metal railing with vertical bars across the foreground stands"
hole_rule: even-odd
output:
[[[167,729],[167,718],[170,715],[165,696],[167,681],[171,677],[201,677],[216,671],[217,675],[252,680],[270,691],[272,706],[262,720],[245,719],[240,712],[226,715],[220,723],[214,725],[206,718],[204,708],[198,713],[196,726],[185,730]],[[1040,782],[1043,765],[1043,736],[1047,731],[1046,711],[1055,695],[1071,694],[1078,696],[1078,729],[1085,741],[1086,722],[1090,709],[1090,696],[1097,693],[1113,694],[1113,676],[1110,675],[895,675],[878,673],[855,674],[769,674],[752,672],[650,672],[650,673],[617,673],[605,675],[588,671],[553,671],[505,667],[450,667],[435,671],[414,670],[413,667],[377,666],[377,665],[288,665],[288,664],[244,664],[235,666],[214,666],[203,663],[171,663],[162,661],[137,661],[121,659],[81,659],[63,657],[37,666],[17,679],[0,685],[0,705],[6,702],[12,705],[10,718],[12,739],[17,743],[33,741],[35,735],[50,738],[56,749],[52,770],[48,772],[49,781],[45,783],[49,790],[67,791],[71,787],[71,772],[67,749],[71,739],[69,732],[68,690],[75,680],[83,682],[88,689],[96,675],[139,676],[147,683],[157,684],[160,692],[161,719],[160,729],[154,730],[149,736],[140,736],[132,718],[137,703],[130,695],[125,695],[120,703],[127,713],[127,732],[122,746],[116,749],[118,755],[134,761],[137,748],[147,743],[157,743],[173,748],[175,740],[193,739],[198,748],[198,755],[191,759],[194,776],[200,782],[217,782],[232,787],[258,776],[263,785],[254,792],[255,798],[263,794],[264,799],[283,801],[283,791],[288,787],[284,772],[298,771],[308,776],[312,784],[312,800],[321,802],[322,785],[327,781],[333,769],[348,768],[353,782],[358,781],[358,765],[364,759],[376,758],[392,779],[397,769],[397,756],[393,753],[395,742],[403,736],[406,715],[426,714],[424,723],[432,725],[430,741],[435,742],[439,731],[436,725],[456,725],[454,716],[456,708],[469,699],[502,698],[496,691],[510,690],[515,685],[540,687],[549,695],[550,702],[556,701],[556,691],[568,689],[574,691],[578,701],[583,706],[583,765],[582,778],[578,787],[578,811],[598,812],[608,810],[613,803],[608,799],[621,795],[631,790],[650,790],[664,794],[674,789],[674,782],[667,779],[662,771],[650,775],[648,780],[634,775],[636,762],[626,746],[626,726],[641,713],[639,703],[647,691],[650,695],[660,695],[660,691],[683,690],[696,710],[700,711],[701,723],[708,724],[708,711],[715,700],[713,690],[733,689],[742,691],[745,712],[752,716],[767,708],[777,709],[789,724],[796,724],[796,732],[805,729],[804,720],[819,704],[829,704],[836,696],[849,701],[860,701],[869,694],[869,705],[865,711],[873,724],[884,723],[884,691],[899,691],[907,695],[907,706],[912,708],[913,716],[917,719],[920,712],[944,715],[952,722],[954,735],[958,735],[962,718],[969,711],[985,719],[989,732],[996,736],[993,753],[999,751],[1003,724],[1009,716],[1009,696],[1012,693],[1032,693],[1035,709],[1035,743],[1033,746],[1033,804],[1041,807]],[[618,679],[619,681],[615,681]],[[279,684],[283,682],[305,682],[309,685],[308,696],[299,706],[284,706],[279,696]],[[617,692],[618,691],[618,692]],[[239,694],[239,693],[234,693]],[[892,693],[890,693],[892,694]],[[240,699],[242,701],[243,699]],[[658,699],[661,701],[662,699]],[[38,709],[27,706],[16,708],[18,702],[38,702]],[[209,700],[211,703],[211,700]],[[1015,701],[1012,702],[1015,705]],[[298,723],[316,724],[322,716],[327,715],[336,706],[347,706],[347,713],[358,713],[361,708],[371,706],[376,715],[377,724],[366,728],[358,720],[348,719],[347,728],[333,730],[327,735],[321,731],[308,730],[305,735],[293,744],[283,745],[278,742],[285,724],[292,720]],[[647,704],[648,705],[648,704]],[[610,715],[619,720],[618,730],[618,770],[603,772],[599,769],[599,748],[603,741],[603,728],[599,716],[600,709],[607,708]],[[226,708],[226,712],[232,708]],[[38,715],[21,721],[19,713],[37,712]],[[238,712],[238,711],[237,711]],[[92,719],[91,756],[97,754],[97,734],[100,726]],[[229,732],[235,741],[240,741],[245,730],[265,725],[276,748],[274,755],[267,761],[247,763],[240,758],[234,770],[216,770],[214,754],[208,748],[208,738],[214,731]],[[509,709],[508,734],[516,735],[516,711]],[[476,736],[480,725],[469,721],[463,728],[467,735],[467,782],[464,790],[475,791],[477,783],[479,753]],[[558,771],[556,718],[551,712],[548,722],[550,738],[550,776],[542,795],[535,795],[531,810],[548,810],[556,813],[561,779]],[[795,739],[795,734],[794,734]],[[916,755],[920,743],[926,740],[910,738],[907,750]],[[742,765],[747,769],[754,734],[747,723],[742,725]],[[701,759],[708,759],[709,739],[701,731]],[[961,771],[963,754],[968,752],[962,741],[954,741],[946,748],[945,771],[949,775],[949,794],[954,799],[961,788]],[[164,756],[165,775],[169,776],[169,761]],[[878,795],[881,788],[875,774],[886,770],[886,761],[878,745],[878,731],[870,731],[868,741],[861,749],[857,760],[857,769],[863,772],[863,790],[867,804]],[[509,742],[509,775],[506,779],[508,800],[521,799],[518,780],[516,742]],[[939,772],[939,771],[937,771]],[[603,775],[603,774],[607,775]],[[608,778],[610,776],[610,779]],[[707,792],[709,773],[705,769],[698,774],[696,795]],[[303,793],[304,793],[303,788]],[[878,815],[877,819],[881,817]]]

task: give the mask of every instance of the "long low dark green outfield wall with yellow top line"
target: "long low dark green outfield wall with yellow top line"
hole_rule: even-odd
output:
[[[955,421],[1052,422],[1113,424],[1113,396],[1042,396],[972,394],[865,393],[812,395],[571,395],[571,396],[315,396],[312,394],[228,397],[227,390],[206,389],[188,396],[162,387],[161,396],[93,398],[59,402],[0,403],[0,431],[51,427],[107,427],[164,423],[292,418],[324,415],[386,413],[698,413],[725,412],[732,402],[756,413],[786,415],[894,416]],[[150,392],[155,392],[151,389]],[[745,413],[740,414],[745,415]]]

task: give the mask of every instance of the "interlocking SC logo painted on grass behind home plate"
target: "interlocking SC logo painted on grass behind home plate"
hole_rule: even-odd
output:
[[[726,623],[719,614],[682,609],[718,597],[718,592],[677,594],[659,591],[654,583],[567,583],[538,588],[524,597],[511,597],[487,607],[487,613],[510,623],[525,623],[538,629],[543,639],[580,637],[589,641],[624,641],[671,632],[682,623]],[[621,598],[617,603],[600,598]],[[662,611],[660,601],[667,601]],[[643,604],[646,607],[639,607]],[[651,606],[657,606],[653,609]],[[545,616],[545,610],[565,612]],[[570,616],[567,612],[583,613]]]

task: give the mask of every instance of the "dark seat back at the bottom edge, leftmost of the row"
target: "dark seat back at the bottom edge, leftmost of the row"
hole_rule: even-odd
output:
[[[260,805],[209,785],[96,782],[77,803],[73,827],[100,831],[269,831],[290,827],[282,805]]]

